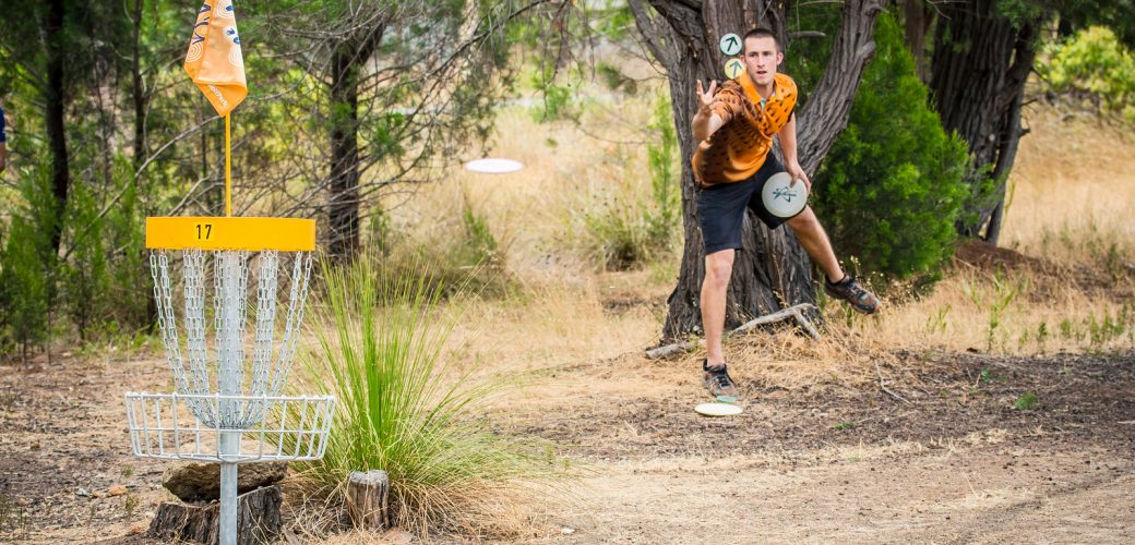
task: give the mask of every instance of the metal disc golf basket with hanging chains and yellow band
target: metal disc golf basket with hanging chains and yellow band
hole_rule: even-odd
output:
[[[126,394],[131,445],[140,457],[221,465],[221,544],[236,542],[238,465],[316,460],[327,446],[335,399],[284,395],[314,244],[312,220],[146,219],[176,392]]]

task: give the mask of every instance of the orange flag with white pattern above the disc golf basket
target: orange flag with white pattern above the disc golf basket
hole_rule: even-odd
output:
[[[221,116],[249,94],[233,0],[205,0],[201,6],[185,53],[185,71]]]

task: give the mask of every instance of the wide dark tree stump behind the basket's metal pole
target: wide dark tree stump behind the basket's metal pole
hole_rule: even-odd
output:
[[[252,545],[274,542],[280,533],[279,486],[267,486],[236,496],[236,543]],[[162,502],[150,522],[149,537],[213,545],[220,536],[220,504],[188,505]]]

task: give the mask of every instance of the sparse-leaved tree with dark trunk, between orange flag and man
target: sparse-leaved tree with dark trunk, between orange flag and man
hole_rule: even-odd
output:
[[[278,91],[296,130],[291,208],[326,218],[350,258],[378,197],[435,180],[488,136],[510,87],[510,25],[561,2],[250,2],[261,40],[287,65]]]

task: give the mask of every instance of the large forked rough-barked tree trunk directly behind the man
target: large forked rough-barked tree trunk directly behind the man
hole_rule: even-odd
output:
[[[663,339],[700,333],[700,288],[705,254],[695,207],[690,157],[697,143],[692,114],[697,110],[697,80],[720,79],[726,58],[717,48],[726,33],[745,34],[747,27],[767,26],[785,36],[784,2],[742,0],[686,2],[631,0],[634,20],[654,58],[666,69],[674,126],[682,152],[682,224],[686,242],[678,286],[670,295]],[[847,0],[827,71],[806,108],[798,113],[800,164],[815,173],[835,137],[847,126],[851,102],[863,70],[874,53],[875,18],[883,1]],[[653,9],[650,9],[653,8]],[[740,28],[740,24],[746,28]],[[782,44],[785,42],[781,41]],[[729,288],[726,329],[751,317],[800,303],[815,303],[812,264],[791,229],[768,230],[753,214],[746,219],[742,244]]]

